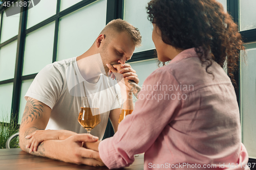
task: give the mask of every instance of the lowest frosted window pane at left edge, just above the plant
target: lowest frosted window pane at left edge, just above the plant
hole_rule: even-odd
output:
[[[13,83],[0,85],[0,122],[9,123],[12,107]]]

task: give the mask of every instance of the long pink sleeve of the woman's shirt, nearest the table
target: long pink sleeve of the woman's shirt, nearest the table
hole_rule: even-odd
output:
[[[168,88],[162,90],[165,85]],[[113,137],[99,144],[100,158],[108,168],[132,164],[134,155],[147,151],[177,115],[182,92],[179,88],[170,89],[169,85],[179,87],[175,77],[161,68],[145,80],[133,113],[122,120]]]

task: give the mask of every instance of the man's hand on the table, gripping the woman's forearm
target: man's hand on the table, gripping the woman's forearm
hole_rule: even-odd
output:
[[[55,159],[65,162],[86,164],[90,166],[104,166],[99,153],[82,147],[83,142],[96,142],[98,137],[90,134],[77,134],[58,142]]]

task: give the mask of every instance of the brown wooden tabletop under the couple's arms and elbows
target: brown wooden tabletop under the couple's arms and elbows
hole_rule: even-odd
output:
[[[140,170],[143,169],[144,154],[139,154],[135,157],[134,163],[124,169]],[[66,163],[54,159],[34,156],[22,151],[19,148],[15,149],[0,149],[0,169],[16,170],[16,169],[109,169],[104,167],[93,167],[87,165],[77,165]]]

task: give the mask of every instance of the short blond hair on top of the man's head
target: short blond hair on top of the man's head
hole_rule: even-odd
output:
[[[127,32],[131,36],[136,47],[139,47],[141,45],[141,35],[139,29],[135,28],[133,25],[131,25],[131,23],[122,19],[114,19],[110,21],[100,34],[105,34],[106,39],[110,40],[116,34],[123,31]]]

